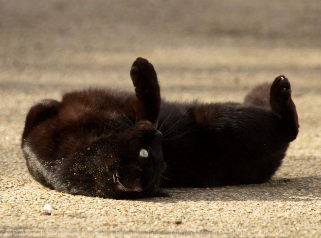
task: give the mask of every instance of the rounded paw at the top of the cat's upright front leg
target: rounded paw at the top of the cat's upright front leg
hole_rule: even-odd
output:
[[[130,69],[130,77],[135,87],[144,88],[154,81],[157,82],[157,76],[153,65],[149,63],[148,60],[141,57],[134,61]]]

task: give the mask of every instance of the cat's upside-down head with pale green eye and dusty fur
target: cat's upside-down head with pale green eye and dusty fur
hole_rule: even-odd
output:
[[[161,139],[161,133],[148,121],[101,136],[85,154],[92,158],[88,166],[93,170],[96,193],[121,199],[158,192],[166,168]]]

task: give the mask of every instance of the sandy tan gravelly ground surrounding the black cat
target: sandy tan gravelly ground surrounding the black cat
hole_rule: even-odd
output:
[[[0,0],[0,236],[320,237],[320,26],[319,0]],[[20,150],[28,108],[89,85],[133,90],[138,56],[170,100],[240,102],[285,74],[300,133],[272,180],[133,201],[36,183]]]

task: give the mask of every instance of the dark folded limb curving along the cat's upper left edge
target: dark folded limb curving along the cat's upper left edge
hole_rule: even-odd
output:
[[[56,100],[45,99],[33,105],[26,117],[24,131],[22,134],[22,145],[24,139],[42,121],[52,118],[59,113],[60,102]]]

